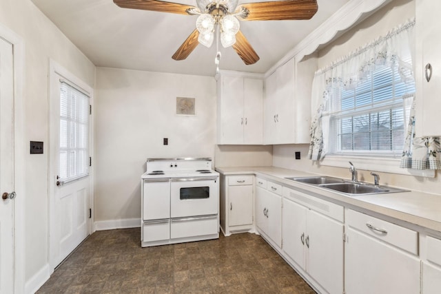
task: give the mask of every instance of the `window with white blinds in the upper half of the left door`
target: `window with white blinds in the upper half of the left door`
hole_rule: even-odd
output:
[[[89,96],[60,83],[59,176],[64,182],[88,176]]]

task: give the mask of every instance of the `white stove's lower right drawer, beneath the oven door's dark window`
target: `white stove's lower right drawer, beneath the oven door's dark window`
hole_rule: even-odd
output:
[[[218,216],[172,219],[170,238],[187,238],[218,233]]]

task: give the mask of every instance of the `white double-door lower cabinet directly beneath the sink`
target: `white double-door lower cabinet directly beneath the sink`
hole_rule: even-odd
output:
[[[343,207],[283,188],[283,251],[325,293],[343,293]]]

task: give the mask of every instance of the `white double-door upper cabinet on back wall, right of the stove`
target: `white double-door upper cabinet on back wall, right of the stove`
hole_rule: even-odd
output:
[[[218,78],[218,144],[263,144],[263,80],[239,74]]]

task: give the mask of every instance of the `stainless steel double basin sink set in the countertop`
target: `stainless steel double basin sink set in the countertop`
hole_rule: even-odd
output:
[[[331,189],[336,192],[344,193],[348,196],[362,196],[369,194],[381,193],[396,193],[405,192],[408,190],[397,189],[387,186],[375,186],[365,182],[352,182],[341,178],[333,178],[329,176],[311,176],[300,178],[286,178],[296,182],[303,182],[305,184]]]

